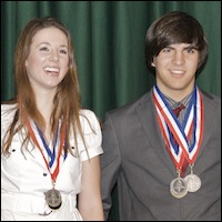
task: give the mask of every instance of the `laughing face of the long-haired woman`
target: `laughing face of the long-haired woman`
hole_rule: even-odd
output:
[[[38,31],[33,36],[26,68],[34,90],[56,90],[69,69],[65,34],[54,27]]]

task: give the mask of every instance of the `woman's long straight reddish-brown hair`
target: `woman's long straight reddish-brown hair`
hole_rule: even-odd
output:
[[[26,60],[30,53],[30,47],[34,34],[44,28],[54,27],[61,30],[68,39],[68,53],[69,53],[69,70],[64,75],[64,79],[59,83],[57,93],[53,99],[53,110],[51,113],[51,132],[53,138],[59,124],[59,120],[62,120],[62,125],[65,124],[65,149],[72,150],[69,144],[70,130],[73,129],[73,135],[77,144],[77,133],[80,133],[83,139],[83,133],[80,123],[80,88],[78,80],[78,71],[74,59],[74,50],[72,46],[71,36],[68,29],[54,18],[34,18],[23,29],[17,43],[14,53],[14,74],[16,74],[16,87],[17,98],[14,103],[18,102],[16,108],[14,119],[8,129],[6,140],[2,145],[2,152],[9,154],[9,148],[13,135],[21,129],[26,129],[26,138],[22,143],[22,148],[26,148],[26,142],[30,141],[30,134],[26,127],[27,118],[33,120],[42,132],[46,129],[46,121],[42,114],[39,112],[36,103],[36,95],[30,84]],[[26,113],[26,115],[23,115]],[[62,128],[61,125],[61,128]]]

